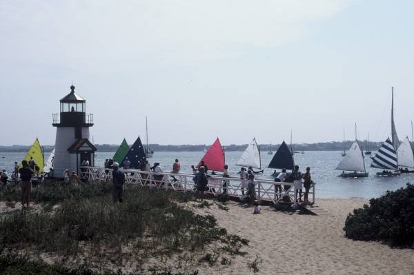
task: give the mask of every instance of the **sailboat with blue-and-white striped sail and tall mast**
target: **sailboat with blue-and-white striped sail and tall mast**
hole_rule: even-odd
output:
[[[383,171],[378,172],[377,176],[396,176],[398,172],[391,172],[386,170],[398,170],[398,161],[397,161],[397,149],[400,145],[400,140],[397,136],[397,131],[395,130],[394,123],[394,88],[392,90],[392,101],[391,101],[391,139],[388,137],[380,150],[375,153],[371,159],[371,167],[380,168]]]

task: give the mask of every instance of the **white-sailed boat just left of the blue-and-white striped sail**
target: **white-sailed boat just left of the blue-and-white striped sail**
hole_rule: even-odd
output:
[[[368,176],[365,169],[364,154],[357,141],[357,125],[355,124],[355,141],[351,147],[346,151],[342,161],[337,165],[335,170],[342,170],[339,176],[346,178],[360,178]],[[345,171],[352,171],[346,173]]]

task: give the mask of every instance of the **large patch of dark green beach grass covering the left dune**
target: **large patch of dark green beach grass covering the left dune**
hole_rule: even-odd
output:
[[[179,202],[193,201],[192,194],[128,186],[124,203],[113,203],[109,194],[109,183],[59,182],[34,188],[33,201],[43,207],[0,216],[0,254],[30,247],[35,253],[82,258],[99,267],[108,261],[119,265],[129,256],[142,265],[146,258],[185,252],[191,255],[184,261],[193,261],[213,243],[217,253],[244,254],[240,249],[248,245],[248,240],[218,227],[214,216],[180,207]],[[0,190],[0,201],[19,199],[19,188]],[[218,258],[212,255],[205,259],[210,264]]]

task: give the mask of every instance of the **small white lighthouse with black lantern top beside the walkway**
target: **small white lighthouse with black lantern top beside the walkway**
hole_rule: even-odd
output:
[[[93,126],[93,114],[86,114],[86,100],[70,86],[70,93],[60,100],[59,114],[53,114],[56,127],[55,159],[53,175],[63,178],[63,172],[81,172],[81,163],[88,160],[95,165],[97,148],[89,141],[89,128]]]

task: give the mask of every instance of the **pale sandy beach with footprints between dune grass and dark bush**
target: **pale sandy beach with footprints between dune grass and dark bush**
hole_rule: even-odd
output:
[[[344,221],[364,199],[317,199],[327,211],[319,216],[276,212],[268,206],[252,214],[230,202],[228,211],[211,206],[195,210],[213,214],[230,233],[244,236],[248,255],[228,267],[213,267],[215,274],[250,274],[246,267],[255,255],[262,258],[257,274],[414,274],[414,250],[393,249],[375,242],[352,241],[344,236]],[[210,267],[200,274],[212,274]]]

